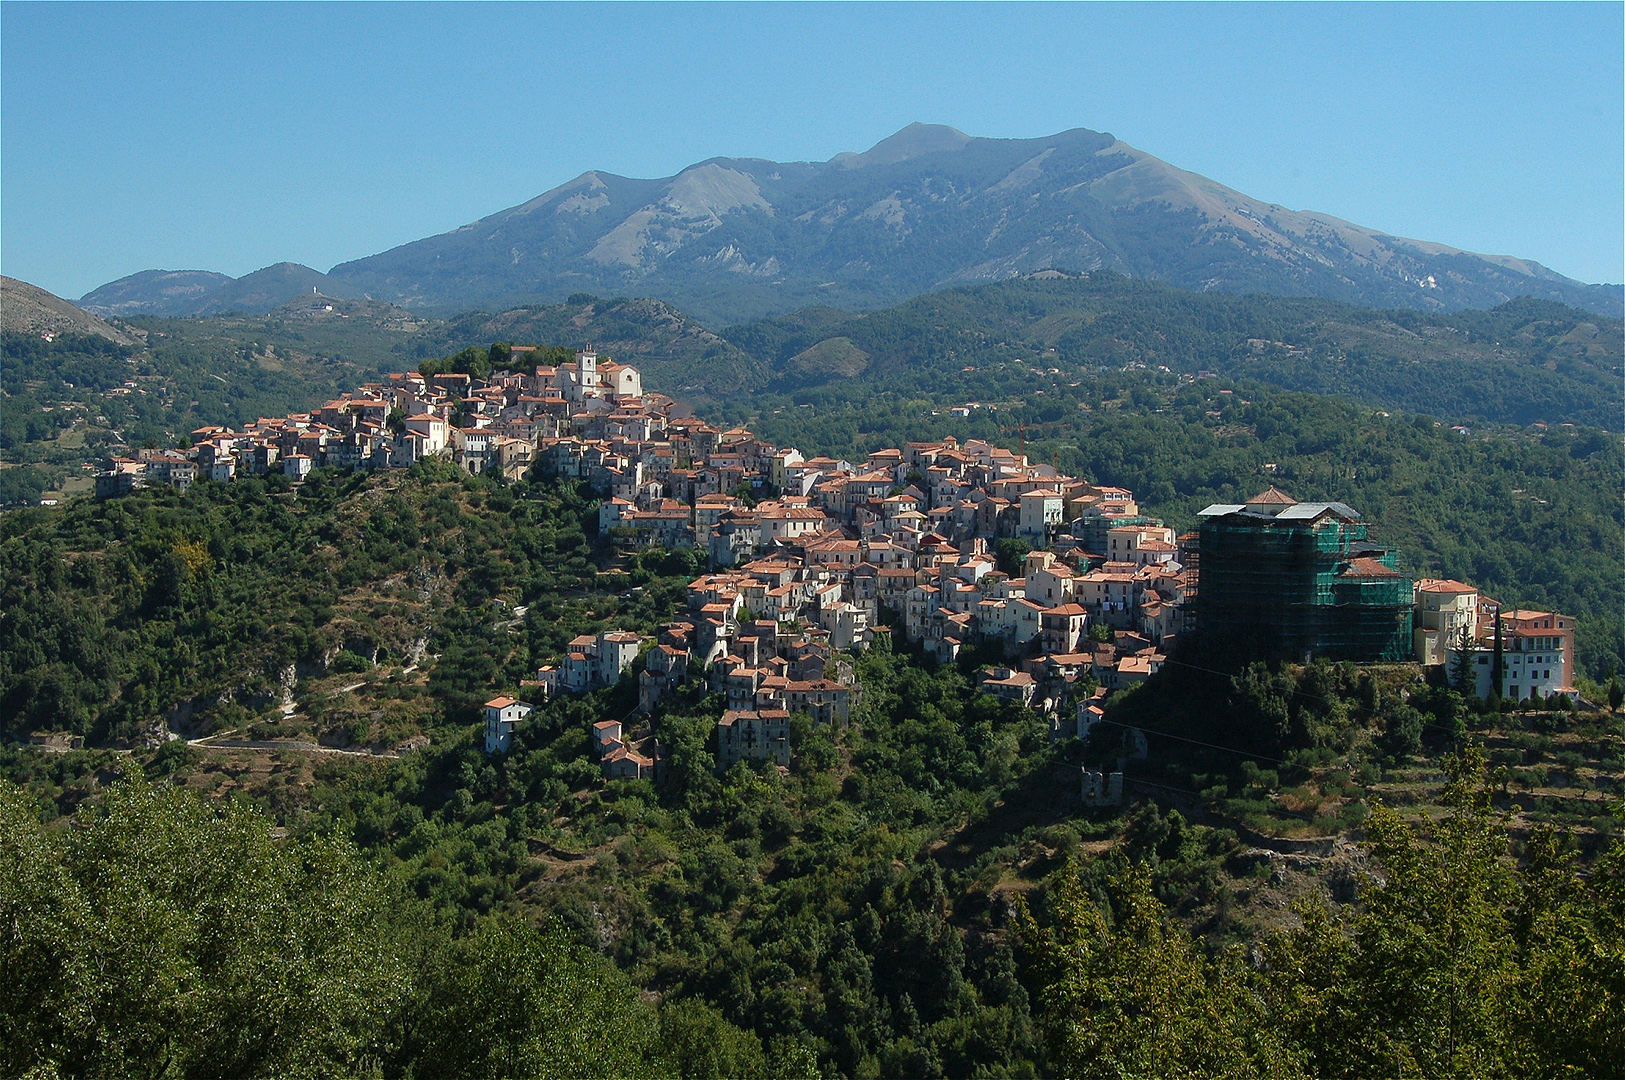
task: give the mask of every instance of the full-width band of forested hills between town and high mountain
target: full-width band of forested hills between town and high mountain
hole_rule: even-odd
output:
[[[309,276],[299,270],[258,281],[302,287]],[[236,296],[252,296],[245,283],[252,284],[249,278],[231,284]],[[1435,313],[1380,310],[1320,297],[1193,292],[1105,270],[1043,270],[874,312],[806,307],[720,330],[665,300],[590,294],[450,318],[380,300],[296,294],[262,313],[239,307],[229,317],[148,315],[112,326],[84,312],[75,322],[72,304],[8,281],[6,328],[46,326],[44,315],[24,323],[28,310],[115,341],[156,335],[167,351],[190,349],[188,357],[325,364],[341,378],[414,367],[491,341],[593,344],[637,364],[652,390],[748,411],[754,395],[819,387],[860,398],[895,391],[1003,400],[1038,391],[1037,383],[1011,382],[1020,372],[1077,380],[1165,369],[1438,417],[1618,430],[1625,380],[1625,323],[1552,300]]]

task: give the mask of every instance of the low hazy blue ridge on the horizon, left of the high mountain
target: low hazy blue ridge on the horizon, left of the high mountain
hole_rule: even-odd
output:
[[[80,304],[101,315],[263,315],[312,292],[341,299],[362,296],[320,270],[275,263],[242,278],[208,270],[143,270],[84,294]]]

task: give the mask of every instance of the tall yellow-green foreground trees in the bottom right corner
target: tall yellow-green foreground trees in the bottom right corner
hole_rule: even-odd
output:
[[[1615,841],[1592,882],[1555,832],[1508,858],[1484,755],[1445,758],[1448,812],[1430,836],[1376,804],[1383,877],[1342,922],[1300,906],[1303,926],[1264,947],[1266,1010],[1308,1072],[1376,1075],[1614,1075],[1625,1035]]]

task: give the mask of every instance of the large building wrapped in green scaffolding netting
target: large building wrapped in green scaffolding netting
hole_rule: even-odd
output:
[[[1251,637],[1302,661],[1409,658],[1410,578],[1394,567],[1393,551],[1367,541],[1357,510],[1271,487],[1199,516],[1196,616],[1204,637]]]

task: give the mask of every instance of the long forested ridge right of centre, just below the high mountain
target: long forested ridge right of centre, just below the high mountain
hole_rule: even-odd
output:
[[[770,387],[783,391],[856,377],[899,390],[910,380],[942,387],[962,382],[967,365],[1022,361],[1074,375],[1136,365],[1207,370],[1510,424],[1617,430],[1625,404],[1620,320],[1540,300],[1427,315],[1045,271],[866,315],[808,309],[730,326],[723,336],[757,357],[772,372]]]

